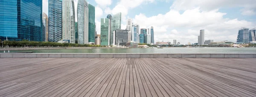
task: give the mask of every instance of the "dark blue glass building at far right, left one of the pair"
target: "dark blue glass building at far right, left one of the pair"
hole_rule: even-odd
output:
[[[249,28],[239,29],[237,43],[249,43]]]

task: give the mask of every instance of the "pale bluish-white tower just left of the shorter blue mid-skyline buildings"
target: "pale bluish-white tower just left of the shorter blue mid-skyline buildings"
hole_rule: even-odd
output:
[[[139,34],[140,34],[140,26],[138,24],[134,24],[131,26],[131,41],[140,43],[139,39]]]

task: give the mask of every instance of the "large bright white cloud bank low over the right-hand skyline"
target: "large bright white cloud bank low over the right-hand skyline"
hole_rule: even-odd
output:
[[[197,43],[201,29],[205,29],[206,40],[235,42],[240,27],[255,26],[246,20],[224,18],[225,14],[218,9],[202,11],[200,8],[194,8],[185,10],[183,13],[171,9],[166,14],[151,17],[138,14],[133,20],[142,26],[154,26],[156,42],[176,39],[181,44]]]

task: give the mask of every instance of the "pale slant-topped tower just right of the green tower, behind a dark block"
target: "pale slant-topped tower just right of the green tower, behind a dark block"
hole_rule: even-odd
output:
[[[111,17],[110,45],[113,45],[113,31],[121,29],[121,12]]]

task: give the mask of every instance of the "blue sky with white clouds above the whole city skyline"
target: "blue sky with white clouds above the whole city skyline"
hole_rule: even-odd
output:
[[[78,0],[75,2],[75,11]],[[256,28],[256,0],[87,0],[95,6],[96,31],[100,18],[122,13],[121,29],[128,18],[140,29],[154,27],[154,39],[177,40],[181,44],[198,43],[200,30],[205,40],[236,42],[241,27]],[[48,0],[43,0],[48,14]]]

